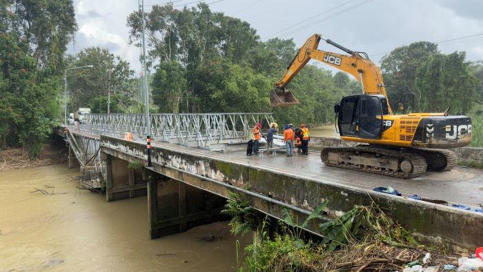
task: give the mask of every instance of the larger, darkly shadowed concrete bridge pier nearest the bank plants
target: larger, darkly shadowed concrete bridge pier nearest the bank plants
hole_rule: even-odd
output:
[[[149,169],[143,173],[148,182],[151,239],[228,219],[220,214],[226,203],[224,197]]]

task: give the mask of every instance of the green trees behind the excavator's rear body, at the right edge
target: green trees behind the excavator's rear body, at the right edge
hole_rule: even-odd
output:
[[[472,71],[483,76],[480,64],[470,66],[465,52],[441,54],[435,43],[419,41],[384,56],[381,69],[393,108],[404,93],[414,92],[418,112],[469,113],[477,99],[478,82]]]

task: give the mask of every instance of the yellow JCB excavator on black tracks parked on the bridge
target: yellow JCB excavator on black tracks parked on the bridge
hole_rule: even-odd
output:
[[[446,171],[456,165],[455,153],[446,148],[471,143],[470,117],[449,116],[449,109],[444,113],[394,115],[381,71],[368,55],[330,39],[322,40],[348,55],[318,50],[321,39],[319,34],[307,39],[275,84],[270,103],[275,107],[299,104],[286,86],[311,59],[347,72],[360,82],[362,94],[343,97],[334,111],[341,139],[365,144],[324,148],[324,164],[403,178],[417,177],[426,171]],[[404,113],[404,105],[398,109]]]

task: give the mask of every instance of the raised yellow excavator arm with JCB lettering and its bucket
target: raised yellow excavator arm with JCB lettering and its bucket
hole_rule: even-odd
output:
[[[384,95],[384,97],[387,98],[381,70],[368,58],[366,53],[349,50],[330,39],[324,41],[343,50],[349,55],[340,55],[333,52],[318,50],[317,48],[321,39],[322,36],[319,34],[312,35],[312,37],[308,38],[304,43],[304,46],[300,48],[299,52],[297,52],[297,55],[293,58],[292,63],[288,66],[282,79],[275,83],[275,90],[272,91],[270,96],[272,106],[291,106],[293,104],[298,104],[298,100],[295,99],[292,93],[290,93],[290,90],[286,90],[285,87],[311,59],[315,59],[353,75],[353,77],[361,83],[364,93],[368,95]],[[392,113],[389,101],[388,110],[389,113]]]

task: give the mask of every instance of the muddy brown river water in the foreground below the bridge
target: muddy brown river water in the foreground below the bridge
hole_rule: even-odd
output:
[[[236,270],[236,237],[200,239],[227,222],[150,240],[146,197],[106,202],[77,189],[78,175],[65,164],[0,172],[0,271]],[[238,239],[243,249],[251,237]]]

